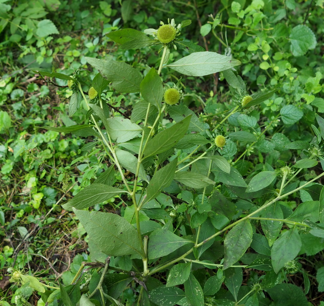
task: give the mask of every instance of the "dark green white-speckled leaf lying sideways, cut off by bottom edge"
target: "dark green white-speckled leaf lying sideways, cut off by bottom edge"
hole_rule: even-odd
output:
[[[158,306],[176,305],[185,293],[178,287],[157,287],[148,292],[149,299]]]

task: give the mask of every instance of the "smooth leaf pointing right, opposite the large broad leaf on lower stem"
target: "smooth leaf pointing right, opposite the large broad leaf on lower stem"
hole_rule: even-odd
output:
[[[154,259],[172,253],[182,245],[193,243],[183,239],[167,229],[154,231],[148,240],[148,258]]]

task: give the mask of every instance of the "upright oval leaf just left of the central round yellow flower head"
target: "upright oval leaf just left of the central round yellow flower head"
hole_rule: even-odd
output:
[[[160,109],[163,98],[163,85],[162,79],[157,74],[154,67],[145,75],[145,78],[141,82],[140,89],[143,98]]]

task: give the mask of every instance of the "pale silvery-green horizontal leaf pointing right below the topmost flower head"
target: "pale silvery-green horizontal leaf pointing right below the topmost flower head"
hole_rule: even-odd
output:
[[[204,76],[240,65],[241,62],[216,52],[195,52],[165,67],[191,76]]]

